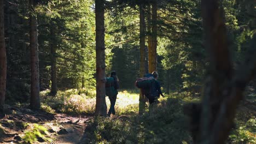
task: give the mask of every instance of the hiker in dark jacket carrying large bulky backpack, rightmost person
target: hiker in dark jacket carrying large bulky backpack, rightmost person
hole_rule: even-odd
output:
[[[157,71],[153,71],[152,74],[146,74],[144,77],[138,79],[136,81],[136,87],[142,89],[143,94],[148,98],[149,104],[154,104],[160,95],[164,97],[158,81]]]

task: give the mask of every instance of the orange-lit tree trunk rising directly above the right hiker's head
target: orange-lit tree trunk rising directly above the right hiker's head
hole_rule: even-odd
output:
[[[149,49],[149,73],[156,71],[157,67],[157,54],[156,54],[156,46],[157,46],[157,1],[153,1],[152,3],[152,40],[151,40],[151,49]]]

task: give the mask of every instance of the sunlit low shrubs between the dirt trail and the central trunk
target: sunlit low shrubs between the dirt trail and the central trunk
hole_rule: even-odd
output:
[[[50,96],[50,90],[40,92],[42,107],[46,112],[68,113],[72,115],[82,115],[84,113],[94,113],[95,98],[86,95],[85,89],[68,89],[58,91],[55,97]],[[88,92],[93,93],[93,92]]]

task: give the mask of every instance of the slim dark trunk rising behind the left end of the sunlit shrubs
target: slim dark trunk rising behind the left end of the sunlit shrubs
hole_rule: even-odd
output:
[[[56,31],[53,27],[50,29],[51,33],[51,95],[57,94],[57,75],[56,75]]]

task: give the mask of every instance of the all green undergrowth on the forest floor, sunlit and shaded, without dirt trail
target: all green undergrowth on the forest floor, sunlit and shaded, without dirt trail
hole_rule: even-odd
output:
[[[92,119],[85,130],[86,143],[191,143],[188,119],[183,115],[184,103],[199,103],[199,97],[186,93],[172,93],[161,98],[158,104],[147,106],[139,116],[139,92],[119,90],[115,106],[117,115],[111,118]],[[50,91],[40,93],[42,109],[46,112],[72,115],[94,114],[95,90],[69,89],[58,91],[55,97]],[[109,99],[106,97],[109,108]],[[235,125],[227,143],[256,143],[256,119],[238,110]],[[252,113],[252,112],[251,112]],[[30,136],[33,140],[35,136]]]

